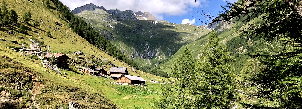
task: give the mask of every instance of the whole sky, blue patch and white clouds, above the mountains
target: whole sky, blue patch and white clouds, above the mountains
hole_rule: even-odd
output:
[[[200,25],[198,17],[204,21],[200,15],[196,15],[196,10],[209,11],[211,14],[218,14],[222,9],[220,5],[225,5],[225,0],[60,0],[71,10],[88,3],[97,6],[104,6],[106,9],[117,8],[120,11],[132,10],[146,11],[153,14],[158,20],[167,20],[172,23],[191,23]],[[237,0],[227,0],[236,2]],[[195,21],[194,21],[195,20]]]

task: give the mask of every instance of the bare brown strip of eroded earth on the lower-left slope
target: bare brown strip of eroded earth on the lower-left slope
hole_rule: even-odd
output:
[[[36,95],[37,94],[41,94],[41,92],[40,92],[40,89],[42,89],[45,85],[43,85],[43,84],[40,84],[38,81],[38,78],[34,75],[34,74],[32,74],[31,72],[29,72],[29,74],[31,75],[31,76],[33,76],[33,84],[34,84],[34,87],[33,87],[33,90],[31,90],[31,95],[33,95],[33,96],[31,96],[31,100],[33,101],[33,103],[34,103],[34,106],[37,108],[37,109],[40,109],[40,106],[36,103],[36,101],[35,101],[35,99],[36,99]]]

